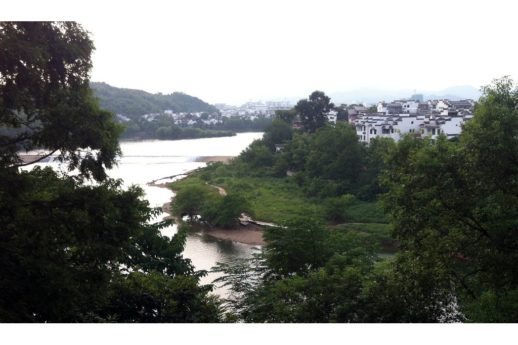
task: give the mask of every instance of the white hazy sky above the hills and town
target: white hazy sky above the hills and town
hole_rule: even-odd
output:
[[[518,5],[510,0],[29,3],[2,12],[75,20],[91,32],[92,81],[211,104],[518,78]]]

